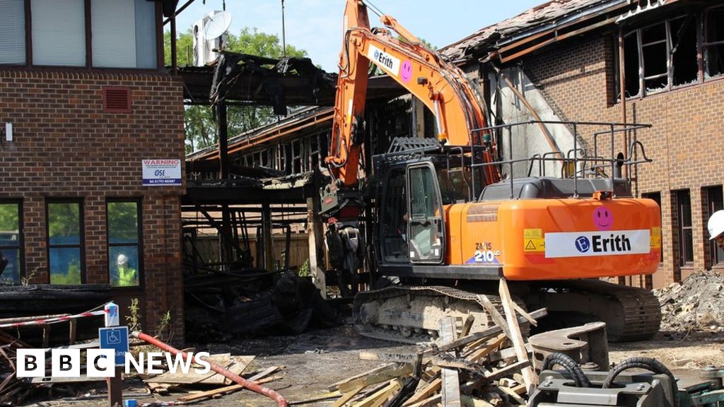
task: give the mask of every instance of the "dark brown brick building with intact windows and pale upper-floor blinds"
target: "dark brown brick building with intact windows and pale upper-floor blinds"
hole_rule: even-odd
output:
[[[169,3],[0,0],[0,250],[6,283],[111,285],[182,340],[185,185],[142,180],[143,159],[184,154]]]

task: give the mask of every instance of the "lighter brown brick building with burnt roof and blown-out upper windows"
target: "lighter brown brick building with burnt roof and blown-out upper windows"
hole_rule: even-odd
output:
[[[723,208],[722,27],[718,0],[558,0],[442,52],[480,78],[497,120],[531,118],[509,93],[513,85],[542,119],[652,125],[628,135],[654,160],[629,177],[638,196],[660,202],[662,264],[652,279],[627,282],[660,287],[724,267],[706,227],[712,211]],[[592,136],[581,130],[576,137],[591,155]],[[568,132],[557,140],[563,148],[572,138]],[[615,142],[616,151],[626,150],[623,135]]]

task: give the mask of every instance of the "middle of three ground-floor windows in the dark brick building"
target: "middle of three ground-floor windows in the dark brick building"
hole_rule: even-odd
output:
[[[83,210],[80,201],[49,201],[48,264],[51,284],[83,282]]]

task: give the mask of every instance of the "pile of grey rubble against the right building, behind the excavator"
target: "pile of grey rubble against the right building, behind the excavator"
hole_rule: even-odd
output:
[[[661,330],[724,332],[724,276],[702,270],[681,283],[654,290],[661,304]]]

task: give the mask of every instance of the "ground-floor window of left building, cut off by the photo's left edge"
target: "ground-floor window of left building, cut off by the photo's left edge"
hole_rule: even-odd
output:
[[[0,253],[7,260],[0,280],[6,284],[20,282],[22,270],[22,214],[20,203],[0,202]]]

